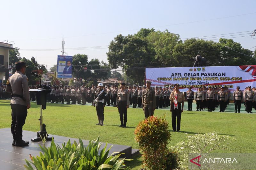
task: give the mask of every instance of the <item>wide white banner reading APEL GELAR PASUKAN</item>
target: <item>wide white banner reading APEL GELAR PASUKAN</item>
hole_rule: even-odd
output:
[[[190,86],[228,87],[230,91],[256,87],[256,65],[216,66],[216,67],[165,67],[146,68],[146,80],[151,86],[173,86],[180,84],[180,91],[186,92]]]

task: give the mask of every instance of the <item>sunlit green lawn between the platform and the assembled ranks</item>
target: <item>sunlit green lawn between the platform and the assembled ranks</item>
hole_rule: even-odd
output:
[[[235,137],[228,153],[253,153],[256,151],[255,129],[256,114],[219,113],[184,111],[181,116],[180,132],[172,132],[171,113],[168,110],[156,110],[155,115],[163,116],[169,122],[171,132],[170,146],[185,140],[187,135],[196,133],[219,132],[223,135]],[[134,130],[138,123],[144,119],[142,109],[129,108],[127,128],[120,128],[120,119],[116,107],[105,107],[104,126],[97,126],[96,109],[92,106],[63,105],[47,103],[43,110],[44,123],[49,134],[65,137],[92,140],[100,136],[101,142],[129,145],[138,148],[134,140]],[[31,103],[24,130],[40,130],[40,106]],[[8,128],[11,124],[10,100],[0,100],[0,128]],[[10,132],[11,133],[11,132]],[[129,163],[131,169],[139,169],[142,158],[137,156]]]

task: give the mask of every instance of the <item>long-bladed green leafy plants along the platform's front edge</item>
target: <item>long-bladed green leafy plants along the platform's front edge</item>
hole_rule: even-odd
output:
[[[79,144],[76,141],[71,144],[68,140],[67,145],[64,143],[61,148],[59,145],[56,146],[53,140],[48,148],[39,145],[43,153],[40,152],[40,156],[36,157],[30,156],[31,161],[26,160],[27,165],[24,167],[27,170],[33,170],[31,166],[33,164],[38,170],[117,170],[125,169],[124,160],[131,160],[118,159],[121,153],[113,156],[117,152],[108,156],[112,146],[106,150],[107,144],[99,153],[101,145],[99,137],[97,140],[90,141],[86,148],[81,139],[79,142]]]

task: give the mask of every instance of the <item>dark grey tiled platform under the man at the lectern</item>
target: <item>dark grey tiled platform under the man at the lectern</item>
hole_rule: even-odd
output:
[[[39,152],[41,151],[39,148],[39,144],[42,145],[42,142],[32,142],[31,138],[34,138],[36,136],[36,132],[31,132],[27,130],[23,130],[23,140],[29,141],[28,146],[24,147],[16,147],[12,146],[12,134],[11,134],[11,128],[4,128],[0,129],[0,169],[3,170],[21,170],[25,169],[24,164],[26,164],[25,159],[30,161],[29,154],[32,156],[39,155]],[[76,141],[79,142],[79,139],[70,138],[70,137],[62,137],[57,135],[50,135],[54,137],[55,144],[58,144],[60,147],[61,144],[64,142],[68,142],[68,139],[70,139],[70,142],[73,143]],[[83,140],[84,146],[87,146],[89,144],[88,140]],[[51,145],[51,141],[47,141],[45,143],[46,147],[49,147]],[[108,144],[107,148],[109,148],[111,145],[113,147],[110,149],[109,155],[111,155],[113,152],[120,152],[125,153],[125,155],[121,155],[120,158],[131,158],[133,155],[136,155],[139,153],[139,150],[132,149],[131,146],[124,146],[124,145],[117,145],[117,144]],[[105,143],[102,143],[101,149],[105,147]]]

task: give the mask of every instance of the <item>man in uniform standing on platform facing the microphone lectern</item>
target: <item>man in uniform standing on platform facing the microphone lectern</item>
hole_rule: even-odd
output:
[[[6,92],[12,93],[11,108],[12,108],[12,145],[27,146],[29,142],[22,140],[22,127],[30,108],[30,97],[28,92],[28,77],[26,72],[25,62],[16,62],[16,72],[9,77],[6,85]]]

